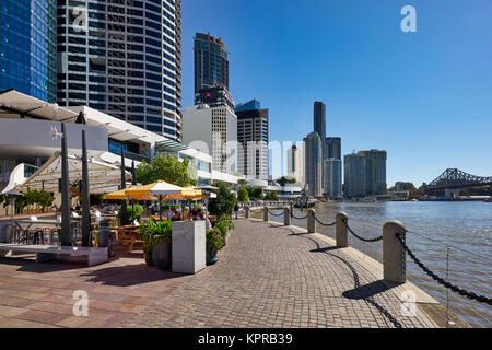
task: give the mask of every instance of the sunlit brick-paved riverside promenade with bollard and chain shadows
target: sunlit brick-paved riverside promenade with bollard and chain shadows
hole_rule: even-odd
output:
[[[122,252],[94,267],[0,258],[0,327],[445,326],[443,305],[384,282],[380,264],[353,248],[271,221],[234,224],[219,261],[194,276]],[[86,317],[73,315],[75,290],[87,292]],[[408,290],[414,315],[402,313]]]

